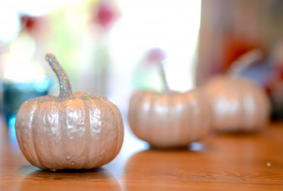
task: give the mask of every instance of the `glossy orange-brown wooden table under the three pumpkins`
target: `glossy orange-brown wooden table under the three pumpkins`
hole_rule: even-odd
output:
[[[87,171],[46,172],[0,123],[0,191],[283,190],[283,123],[261,134],[215,134],[185,150],[151,150],[126,127],[120,154]]]

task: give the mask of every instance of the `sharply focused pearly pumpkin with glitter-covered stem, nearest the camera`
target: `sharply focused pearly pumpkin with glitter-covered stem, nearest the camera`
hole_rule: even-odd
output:
[[[22,153],[41,169],[90,169],[112,161],[124,136],[121,113],[101,95],[72,94],[67,75],[53,55],[46,59],[60,82],[60,95],[26,101],[16,117]]]

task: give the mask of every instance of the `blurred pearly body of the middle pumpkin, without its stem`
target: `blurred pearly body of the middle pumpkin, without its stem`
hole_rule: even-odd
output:
[[[133,134],[153,147],[183,147],[210,132],[210,108],[197,90],[137,91],[129,102],[128,122]]]

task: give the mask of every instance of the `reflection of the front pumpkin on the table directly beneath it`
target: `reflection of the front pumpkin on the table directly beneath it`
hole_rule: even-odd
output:
[[[70,190],[84,191],[94,190],[95,187],[102,190],[117,190],[121,187],[112,173],[103,168],[94,169],[66,169],[56,172],[51,170],[41,170],[32,165],[21,166],[18,171],[24,174],[20,184],[20,190],[57,190],[65,187]]]

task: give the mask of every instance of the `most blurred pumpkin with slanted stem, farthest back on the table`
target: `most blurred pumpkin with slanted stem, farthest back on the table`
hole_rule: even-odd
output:
[[[258,131],[267,126],[271,106],[267,94],[240,71],[260,59],[253,50],[232,64],[232,71],[207,82],[203,90],[212,107],[212,126],[220,131]]]

